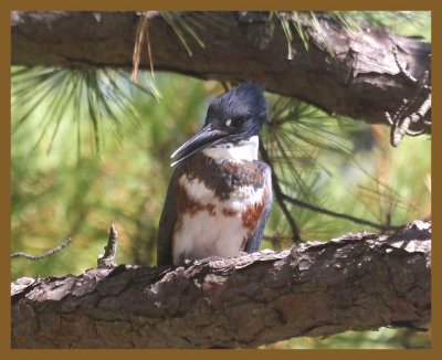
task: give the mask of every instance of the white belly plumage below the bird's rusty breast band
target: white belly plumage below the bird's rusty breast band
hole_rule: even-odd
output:
[[[189,181],[182,176],[179,182],[192,201],[198,201],[204,208],[209,205],[209,210],[185,213],[177,222],[173,264],[182,263],[186,258],[236,256],[243,251],[250,233],[243,226],[242,213],[262,200],[263,190],[241,187],[229,200],[220,201],[212,190],[197,179]]]

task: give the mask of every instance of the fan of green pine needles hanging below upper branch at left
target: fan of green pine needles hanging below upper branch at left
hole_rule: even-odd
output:
[[[116,115],[125,114],[127,120],[137,125],[138,114],[131,105],[129,87],[137,87],[158,98],[155,87],[150,89],[127,81],[125,72],[108,68],[24,67],[12,68],[11,107],[13,112],[12,134],[18,131],[31,116],[42,114],[40,136],[50,140],[51,150],[60,127],[70,117],[75,124],[77,150],[81,151],[82,127],[92,126],[93,144],[101,149],[101,126],[109,126],[117,141],[122,139],[122,124]],[[43,117],[43,116],[41,116]],[[107,124],[106,124],[107,123]],[[39,130],[38,130],[39,131]]]

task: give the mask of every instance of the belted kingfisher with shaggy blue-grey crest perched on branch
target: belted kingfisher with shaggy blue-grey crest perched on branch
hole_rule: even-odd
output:
[[[202,129],[171,155],[158,265],[259,250],[272,207],[271,168],[257,160],[267,117],[263,88],[244,83],[215,97]]]

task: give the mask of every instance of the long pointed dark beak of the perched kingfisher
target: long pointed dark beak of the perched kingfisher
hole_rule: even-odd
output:
[[[229,135],[227,131],[212,129],[211,124],[206,125],[190,140],[181,145],[171,156],[175,161],[170,165],[176,166],[180,161],[187,159],[191,155],[206,149],[207,147],[217,144],[219,140]]]

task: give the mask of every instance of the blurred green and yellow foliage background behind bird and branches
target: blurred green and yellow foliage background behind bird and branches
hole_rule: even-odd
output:
[[[407,27],[403,21],[397,24],[391,13],[379,17],[397,32],[430,40],[428,14],[415,13]],[[95,267],[112,223],[118,231],[118,264],[155,265],[157,225],[172,172],[169,156],[201,127],[208,104],[223,86],[160,72],[155,77],[139,73],[146,91],[122,72],[86,72],[80,77],[62,77],[59,70],[46,77],[39,68],[14,66],[12,72],[12,253],[40,254],[69,236],[73,243],[41,261],[12,261],[11,279]],[[72,96],[62,103],[75,78],[105,94],[109,109],[91,102],[86,91],[76,102]],[[298,100],[267,97],[272,124],[262,137],[288,194],[379,223],[389,219],[403,224],[431,214],[428,136],[406,138],[391,148],[387,126],[329,117]],[[329,240],[362,229],[377,232],[309,210],[290,210],[304,240]],[[261,248],[290,245],[290,227],[274,203]],[[297,338],[266,348],[409,347],[430,347],[430,333],[383,328]]]

